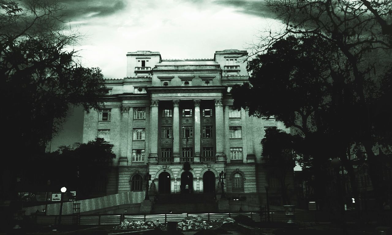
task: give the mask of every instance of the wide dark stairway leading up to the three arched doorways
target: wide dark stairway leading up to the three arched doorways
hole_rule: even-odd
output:
[[[214,193],[159,194],[152,213],[218,213]]]

